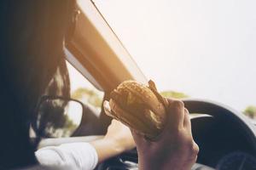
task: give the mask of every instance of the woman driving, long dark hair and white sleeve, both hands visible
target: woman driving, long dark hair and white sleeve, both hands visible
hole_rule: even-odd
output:
[[[52,93],[66,95],[69,89],[63,48],[75,5],[73,0],[0,3],[0,169],[39,163],[46,168],[92,169],[97,162],[135,146],[130,130],[113,122],[103,139],[49,147],[35,155],[38,143],[30,139],[29,128],[38,100],[50,93],[49,83],[58,71],[60,82]],[[169,125],[158,141],[148,142],[133,133],[141,169],[189,169],[195,162],[198,147],[191,135],[188,111],[180,101],[169,102]]]

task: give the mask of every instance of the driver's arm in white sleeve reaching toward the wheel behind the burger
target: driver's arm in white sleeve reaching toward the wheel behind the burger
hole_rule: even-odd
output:
[[[75,142],[44,147],[36,152],[36,156],[39,163],[46,167],[64,166],[70,169],[91,170],[98,162],[134,147],[130,129],[113,120],[108,127],[108,133],[102,139],[90,143]]]

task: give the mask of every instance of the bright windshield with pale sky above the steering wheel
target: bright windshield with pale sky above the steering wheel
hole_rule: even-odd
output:
[[[94,3],[160,91],[256,105],[256,1]]]

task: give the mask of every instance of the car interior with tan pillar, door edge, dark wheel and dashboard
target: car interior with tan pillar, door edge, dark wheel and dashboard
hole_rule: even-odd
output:
[[[77,116],[79,121],[75,130],[66,136],[48,136],[39,148],[102,138],[111,122],[102,109],[102,101],[109,99],[110,92],[120,82],[148,82],[96,5],[90,0],[78,3],[74,34],[66,48],[67,63],[102,95],[102,100],[95,109],[89,100],[84,103],[80,99],[84,110],[82,116]],[[256,125],[252,121],[215,101],[184,99],[183,102],[191,113],[193,137],[200,146],[192,169],[256,169]],[[96,169],[137,169],[137,150],[104,161]]]

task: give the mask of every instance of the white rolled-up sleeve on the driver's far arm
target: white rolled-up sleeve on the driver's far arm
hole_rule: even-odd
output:
[[[35,152],[39,163],[45,167],[72,167],[92,170],[98,163],[95,148],[88,143],[69,143],[48,146]]]

